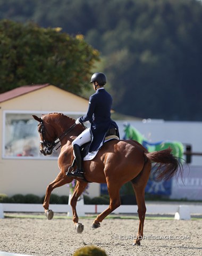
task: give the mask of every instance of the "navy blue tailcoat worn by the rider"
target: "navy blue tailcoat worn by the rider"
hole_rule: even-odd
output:
[[[89,152],[102,147],[108,129],[116,128],[119,136],[119,128],[111,119],[112,96],[104,88],[98,89],[90,96],[88,111],[85,116],[79,118],[79,122],[89,121],[92,140]]]

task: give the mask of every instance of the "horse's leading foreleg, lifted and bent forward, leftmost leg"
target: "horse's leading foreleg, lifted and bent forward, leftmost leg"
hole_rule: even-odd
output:
[[[64,177],[64,174],[62,172],[60,172],[57,175],[56,179],[53,182],[51,182],[48,185],[48,187],[46,188],[46,195],[44,198],[43,207],[45,209],[45,215],[48,220],[52,220],[53,215],[54,215],[53,211],[49,210],[49,201],[50,201],[50,197],[51,197],[51,193],[52,193],[53,189],[55,189],[57,187],[61,187],[64,184],[71,182],[72,180],[73,180],[73,178],[69,179],[68,177]]]

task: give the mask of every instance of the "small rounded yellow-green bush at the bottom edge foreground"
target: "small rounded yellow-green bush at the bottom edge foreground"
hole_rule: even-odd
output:
[[[73,256],[107,256],[106,252],[94,245],[81,247],[73,253]]]

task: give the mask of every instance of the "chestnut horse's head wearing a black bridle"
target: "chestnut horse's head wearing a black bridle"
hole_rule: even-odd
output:
[[[39,122],[38,132],[40,135],[40,153],[44,156],[51,155],[54,147],[56,146],[56,138],[53,127],[47,122],[44,122],[43,116],[41,118],[35,115],[32,116],[36,121]]]

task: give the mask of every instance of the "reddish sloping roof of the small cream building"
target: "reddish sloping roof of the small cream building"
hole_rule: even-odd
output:
[[[4,92],[4,93],[0,94],[0,103],[3,101],[6,101],[6,100],[11,100],[13,98],[19,97],[20,95],[39,90],[48,85],[50,85],[50,84],[25,85],[25,86],[15,88],[8,92]]]

